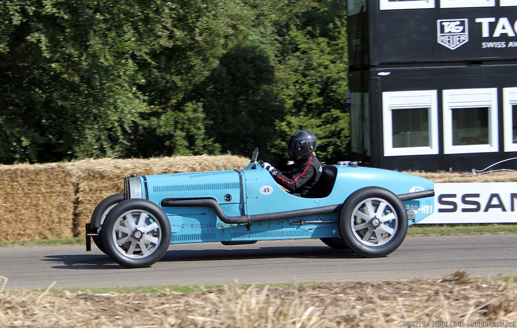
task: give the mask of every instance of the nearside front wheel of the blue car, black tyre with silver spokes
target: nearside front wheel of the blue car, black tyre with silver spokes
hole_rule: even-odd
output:
[[[160,260],[171,243],[171,223],[160,208],[145,199],[120,202],[106,217],[102,240],[118,264],[148,267]]]

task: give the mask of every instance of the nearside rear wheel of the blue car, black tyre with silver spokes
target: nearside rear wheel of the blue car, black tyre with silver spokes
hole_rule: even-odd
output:
[[[343,240],[357,254],[384,257],[404,241],[407,213],[393,192],[366,187],[355,191],[345,201],[339,216],[339,230]]]

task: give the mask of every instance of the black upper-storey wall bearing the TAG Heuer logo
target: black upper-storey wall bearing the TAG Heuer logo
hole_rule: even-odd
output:
[[[378,0],[368,4],[367,12],[348,17],[352,67],[517,57],[517,6],[379,10]]]

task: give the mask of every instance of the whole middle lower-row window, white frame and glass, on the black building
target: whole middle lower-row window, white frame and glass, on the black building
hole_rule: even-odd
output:
[[[445,154],[497,152],[497,89],[444,90]]]

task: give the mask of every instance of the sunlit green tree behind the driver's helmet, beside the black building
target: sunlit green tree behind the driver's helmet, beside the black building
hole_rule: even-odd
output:
[[[280,42],[284,55],[276,69],[276,93],[285,106],[284,117],[277,121],[283,135],[277,150],[285,151],[284,140],[291,133],[306,129],[318,138],[323,160],[331,163],[347,156],[345,19],[345,3],[327,0],[314,4],[285,29]]]

